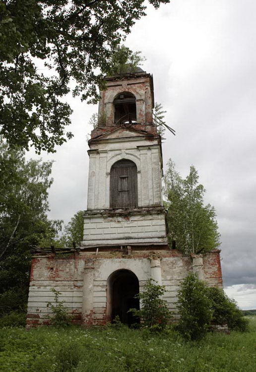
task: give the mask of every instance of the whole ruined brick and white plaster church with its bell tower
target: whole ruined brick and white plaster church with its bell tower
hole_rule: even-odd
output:
[[[67,253],[34,254],[28,327],[49,323],[52,288],[61,292],[74,322],[91,325],[117,315],[131,323],[128,310],[139,308],[134,296],[149,278],[165,285],[164,299],[176,318],[177,291],[190,271],[222,287],[219,250],[185,256],[168,244],[152,75],[137,68],[105,82],[98,126],[88,141],[83,241]]]

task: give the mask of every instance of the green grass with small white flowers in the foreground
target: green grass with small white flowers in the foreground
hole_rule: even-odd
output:
[[[255,372],[256,316],[250,331],[184,342],[174,331],[44,327],[0,329],[3,372]]]

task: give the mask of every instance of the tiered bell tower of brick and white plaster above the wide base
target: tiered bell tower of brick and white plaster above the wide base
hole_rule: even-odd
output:
[[[106,77],[105,83],[98,126],[88,141],[88,200],[81,248],[168,248],[161,137],[152,119],[153,77],[137,68]]]

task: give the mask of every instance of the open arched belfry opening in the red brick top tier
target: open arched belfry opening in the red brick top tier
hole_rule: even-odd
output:
[[[137,122],[136,99],[132,93],[120,93],[114,99],[115,125],[133,124]]]

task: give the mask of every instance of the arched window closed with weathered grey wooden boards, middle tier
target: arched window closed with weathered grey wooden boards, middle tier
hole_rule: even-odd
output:
[[[119,160],[110,171],[110,208],[138,206],[137,167],[130,160]]]

